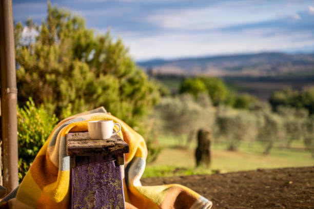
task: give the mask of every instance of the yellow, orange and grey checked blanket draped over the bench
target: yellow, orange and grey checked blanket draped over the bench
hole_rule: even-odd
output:
[[[121,124],[120,137],[129,144],[125,154],[124,194],[126,208],[210,208],[212,203],[179,184],[142,186],[147,148],[141,135],[104,108],[67,118],[57,124],[19,185],[10,208],[69,208],[70,159],[66,155],[66,134],[87,131],[87,121],[111,119]]]

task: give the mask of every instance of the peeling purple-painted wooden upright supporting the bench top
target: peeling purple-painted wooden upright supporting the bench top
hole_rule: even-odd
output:
[[[72,208],[125,208],[120,165],[84,161],[72,168]]]

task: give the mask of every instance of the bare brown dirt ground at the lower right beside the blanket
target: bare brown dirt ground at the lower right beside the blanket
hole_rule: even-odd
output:
[[[142,183],[185,185],[211,200],[212,208],[314,208],[314,166],[144,178]]]

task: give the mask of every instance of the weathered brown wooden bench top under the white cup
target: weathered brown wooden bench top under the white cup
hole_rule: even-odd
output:
[[[129,145],[115,135],[110,139],[91,139],[88,132],[68,133],[67,155],[92,156],[92,155],[119,155],[129,152]]]

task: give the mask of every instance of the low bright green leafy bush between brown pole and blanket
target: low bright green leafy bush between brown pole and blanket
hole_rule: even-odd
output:
[[[19,180],[25,176],[57,121],[56,116],[48,114],[43,105],[36,108],[31,97],[26,106],[17,108]]]

